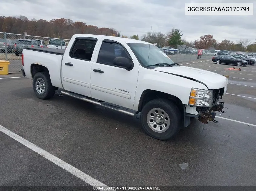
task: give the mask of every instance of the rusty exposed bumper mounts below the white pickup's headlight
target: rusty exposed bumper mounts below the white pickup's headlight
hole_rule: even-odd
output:
[[[207,121],[213,121],[214,123],[219,123],[215,120],[216,111],[226,113],[222,109],[224,108],[224,102],[219,101],[214,104],[213,107],[211,107],[209,110],[203,113],[199,113],[198,120],[201,121],[204,124],[207,124]]]

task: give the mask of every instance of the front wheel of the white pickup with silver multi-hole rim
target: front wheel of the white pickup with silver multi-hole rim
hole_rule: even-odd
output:
[[[158,113],[155,112],[156,110]],[[158,118],[159,116],[161,117]],[[160,123],[157,124],[157,122]],[[181,113],[178,107],[169,100],[151,100],[142,108],[141,124],[149,136],[159,140],[167,140],[173,138],[181,129]]]

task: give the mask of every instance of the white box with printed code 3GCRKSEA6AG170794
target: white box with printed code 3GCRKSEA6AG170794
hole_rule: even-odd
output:
[[[253,16],[253,3],[185,3],[185,15]]]

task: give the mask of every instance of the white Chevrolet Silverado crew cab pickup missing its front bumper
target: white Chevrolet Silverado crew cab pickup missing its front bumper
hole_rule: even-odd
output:
[[[22,74],[40,99],[60,94],[135,116],[157,139],[174,137],[190,124],[218,123],[228,79],[180,66],[153,44],[120,37],[75,34],[66,50],[25,48]]]

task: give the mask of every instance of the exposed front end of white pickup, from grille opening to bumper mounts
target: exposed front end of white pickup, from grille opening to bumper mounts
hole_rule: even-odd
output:
[[[220,101],[224,95],[224,88],[212,90],[213,92],[213,101],[211,107],[197,107],[196,111],[198,112],[198,120],[204,124],[207,124],[207,121],[212,121],[214,123],[219,123],[215,120],[216,111],[226,113],[223,111],[224,102]]]

